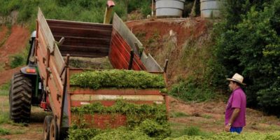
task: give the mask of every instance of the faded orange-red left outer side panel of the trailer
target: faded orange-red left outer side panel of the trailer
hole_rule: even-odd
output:
[[[62,102],[61,97],[57,97],[57,94],[62,95],[63,85],[59,73],[64,65],[64,59],[57,48],[55,38],[52,36],[52,32],[40,8],[38,9],[36,29],[38,36],[36,36],[35,55],[38,69],[43,79],[45,90],[48,92],[52,113],[59,118],[59,116],[61,116]],[[59,124],[60,121],[61,120],[57,119],[57,124]]]

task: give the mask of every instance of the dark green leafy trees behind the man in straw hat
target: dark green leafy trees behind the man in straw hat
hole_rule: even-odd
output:
[[[216,27],[214,73],[221,88],[234,73],[245,77],[248,106],[280,115],[280,1],[230,1]],[[227,86],[224,86],[227,87]]]

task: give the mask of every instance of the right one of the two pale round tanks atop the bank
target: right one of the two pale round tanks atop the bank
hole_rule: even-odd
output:
[[[221,9],[225,5],[225,0],[200,0],[201,18],[219,18]]]

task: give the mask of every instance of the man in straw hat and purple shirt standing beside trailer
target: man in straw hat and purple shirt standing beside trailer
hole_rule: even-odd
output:
[[[242,128],[246,125],[246,94],[241,89],[243,83],[243,76],[239,73],[235,73],[230,80],[230,90],[232,94],[228,99],[228,105],[225,109],[225,131],[226,132],[237,132],[240,134]]]

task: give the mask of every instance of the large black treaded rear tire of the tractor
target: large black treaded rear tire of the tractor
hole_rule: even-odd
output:
[[[23,73],[13,74],[10,85],[10,119],[15,123],[29,123],[31,113],[31,80]]]

